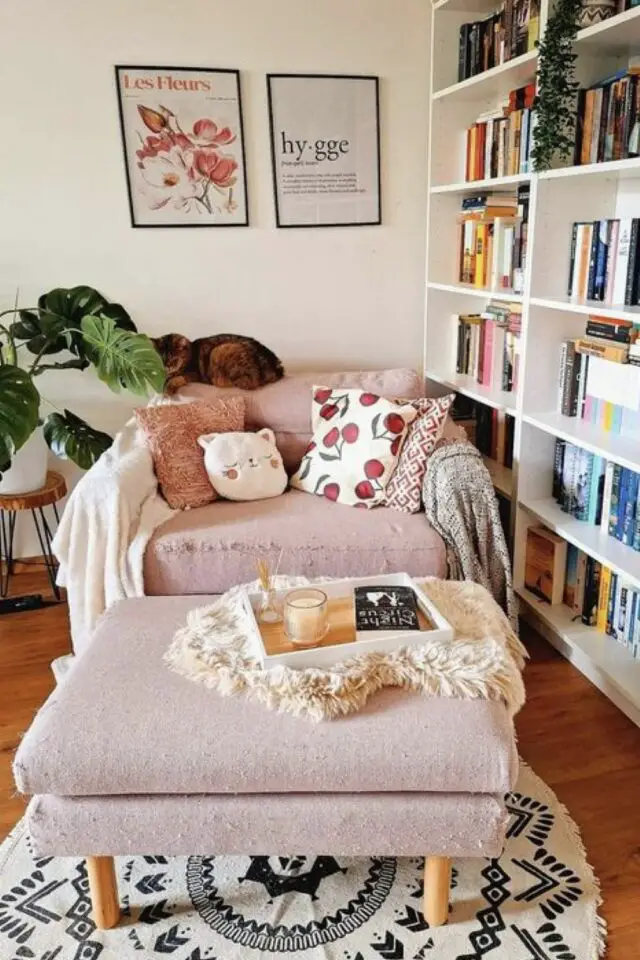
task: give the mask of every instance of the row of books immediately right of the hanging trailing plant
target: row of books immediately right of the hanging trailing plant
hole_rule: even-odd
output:
[[[574,163],[626,160],[640,153],[640,67],[578,93]]]

